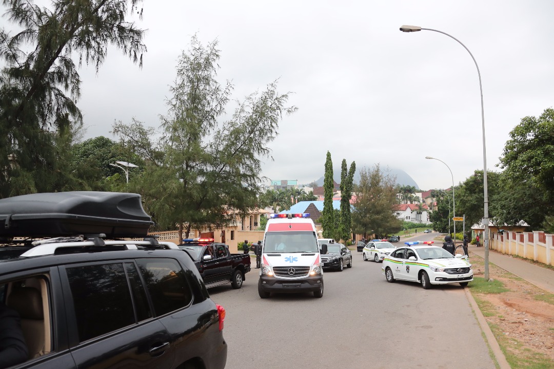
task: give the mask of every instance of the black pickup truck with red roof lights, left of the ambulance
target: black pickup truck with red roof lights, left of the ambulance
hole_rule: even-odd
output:
[[[206,288],[229,282],[233,288],[240,288],[250,271],[249,254],[231,254],[229,246],[214,243],[213,238],[183,240],[178,246],[191,257]]]

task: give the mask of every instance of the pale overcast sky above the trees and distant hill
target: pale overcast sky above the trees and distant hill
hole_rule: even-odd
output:
[[[193,34],[219,41],[220,82],[242,100],[279,79],[294,115],[270,144],[263,175],[309,183],[343,158],[406,171],[421,189],[448,188],[499,162],[509,132],[554,105],[554,2],[542,1],[145,1],[143,68],[110,49],[98,74],[80,70],[88,132],[106,136],[132,117],[158,127],[168,85]],[[5,20],[5,18],[3,18]],[[228,106],[228,111],[234,110]]]

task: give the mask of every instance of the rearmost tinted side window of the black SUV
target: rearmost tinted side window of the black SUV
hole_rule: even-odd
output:
[[[175,311],[192,302],[183,268],[173,259],[137,259],[156,315]]]

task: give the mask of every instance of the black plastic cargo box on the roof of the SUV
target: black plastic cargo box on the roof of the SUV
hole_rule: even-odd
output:
[[[151,225],[139,194],[71,191],[0,200],[0,237],[144,237]]]

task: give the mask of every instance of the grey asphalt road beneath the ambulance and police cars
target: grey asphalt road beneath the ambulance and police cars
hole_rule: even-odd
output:
[[[260,299],[259,269],[242,289],[210,289],[227,311],[227,368],[495,368],[459,284],[424,290],[387,283],[381,263],[352,254],[351,269],[325,271],[321,299],[311,293]]]

